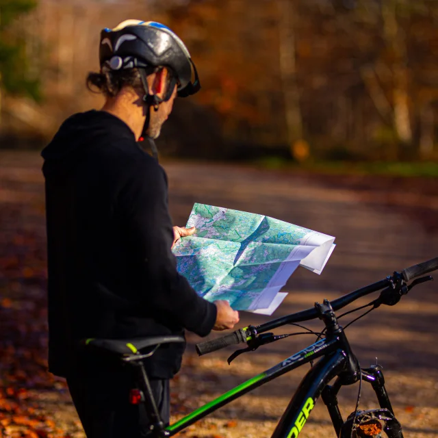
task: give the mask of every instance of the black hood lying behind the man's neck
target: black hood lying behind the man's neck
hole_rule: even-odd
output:
[[[66,175],[81,162],[94,144],[118,139],[136,141],[133,131],[120,118],[96,110],[74,114],[64,121],[41,152],[44,176]]]

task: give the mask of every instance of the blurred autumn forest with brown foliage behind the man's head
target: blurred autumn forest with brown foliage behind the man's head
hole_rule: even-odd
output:
[[[127,18],[187,43],[203,89],[162,153],[437,162],[437,0],[0,0],[0,148],[40,148],[86,90],[99,33]]]

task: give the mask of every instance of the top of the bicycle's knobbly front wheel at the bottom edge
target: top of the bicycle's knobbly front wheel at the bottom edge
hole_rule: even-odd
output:
[[[403,438],[402,425],[388,409],[352,412],[339,438]]]

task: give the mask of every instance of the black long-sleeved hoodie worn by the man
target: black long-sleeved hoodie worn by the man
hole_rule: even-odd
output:
[[[216,306],[178,274],[164,170],[107,112],[68,118],[42,151],[49,271],[49,371],[98,370],[80,339],[205,336]],[[162,346],[146,368],[179,370],[183,346]]]

